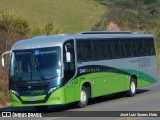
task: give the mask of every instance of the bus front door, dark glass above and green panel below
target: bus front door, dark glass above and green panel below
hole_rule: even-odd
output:
[[[64,43],[63,53],[65,100],[66,103],[70,103],[75,99],[75,81],[72,80],[75,75],[74,40],[69,40]]]

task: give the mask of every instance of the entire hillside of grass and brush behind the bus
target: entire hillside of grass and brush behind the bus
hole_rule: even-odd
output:
[[[50,23],[54,22],[62,28],[62,33],[108,30],[108,24],[113,22],[124,31],[153,34],[160,64],[159,6],[160,0],[0,0],[0,12],[13,11],[27,19],[15,17],[13,22],[10,17],[2,19],[0,14],[0,54],[15,42],[36,35],[32,26],[37,23],[47,26],[43,27],[45,31],[34,29],[34,32],[48,35]],[[4,105],[9,102],[7,71],[7,67],[0,68],[0,104]]]

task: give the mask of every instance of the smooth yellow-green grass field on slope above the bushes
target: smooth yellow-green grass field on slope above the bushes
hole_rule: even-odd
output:
[[[0,0],[0,3],[0,11],[17,11],[31,25],[55,21],[65,33],[91,30],[105,12],[105,7],[93,0]]]

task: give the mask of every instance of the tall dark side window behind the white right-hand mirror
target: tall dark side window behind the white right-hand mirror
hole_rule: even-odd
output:
[[[70,53],[70,62],[66,58],[66,50]],[[74,40],[66,41],[63,45],[64,79],[69,81],[75,75]]]

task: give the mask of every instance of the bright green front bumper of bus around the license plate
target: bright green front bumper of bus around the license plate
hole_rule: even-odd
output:
[[[13,93],[10,94],[11,104],[13,107],[23,107],[23,106],[43,106],[43,105],[64,105],[65,104],[65,94],[64,87],[61,87],[51,93],[50,96],[40,95],[40,96],[20,96],[17,97]],[[35,98],[36,101],[30,102],[30,98]]]

